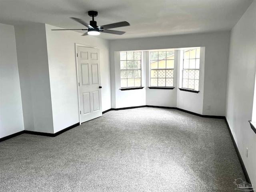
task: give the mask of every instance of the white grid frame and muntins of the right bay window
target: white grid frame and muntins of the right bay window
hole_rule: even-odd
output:
[[[200,58],[200,54],[199,54],[199,58],[197,57],[197,54],[196,54],[196,52],[197,52],[197,49],[199,49],[199,51],[201,52],[201,48],[200,47],[198,47],[198,48],[190,48],[190,49],[186,49],[186,50],[183,50],[183,61],[182,61],[182,82],[181,82],[181,86],[180,86],[180,90],[182,90],[182,91],[188,91],[188,92],[194,92],[194,93],[198,93],[199,92],[199,86],[200,86],[200,60],[201,60],[201,58]],[[191,50],[196,50],[196,52],[195,52],[195,58],[190,58],[190,52],[191,52]],[[188,56],[188,59],[185,59],[184,58],[184,53],[186,52],[186,51],[189,51],[189,56]],[[199,52],[199,53],[200,53]],[[195,60],[195,68],[190,68],[190,60],[192,60],[192,59],[194,59]],[[199,68],[196,68],[196,60],[197,59],[199,59]],[[188,68],[184,68],[184,60],[189,60],[189,63],[188,63]],[[190,79],[189,78],[189,72],[188,72],[188,78],[184,78],[184,70],[194,70],[194,79]],[[195,74],[196,74],[196,71],[198,71],[198,79],[195,79]],[[194,82],[195,82],[195,80],[198,80],[198,89],[195,89],[195,83],[194,83],[194,89],[192,89],[192,88],[184,88],[183,87],[183,81],[184,81],[184,79],[186,79],[186,80],[188,80],[188,82],[189,82],[189,80],[194,80]]]

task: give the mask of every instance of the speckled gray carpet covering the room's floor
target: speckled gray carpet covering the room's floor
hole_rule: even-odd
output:
[[[1,192],[234,192],[244,179],[223,119],[110,111],[54,138],[0,143]]]

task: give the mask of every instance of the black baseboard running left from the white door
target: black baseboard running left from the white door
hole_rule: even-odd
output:
[[[32,135],[41,135],[41,136],[48,136],[48,137],[56,137],[58,136],[59,134],[62,134],[63,132],[66,132],[67,130],[70,130],[76,126],[80,125],[80,123],[76,123],[72,126],[69,126],[63,130],[60,130],[56,133],[43,133],[43,132],[36,132],[36,131],[28,131],[28,130],[23,130],[23,131],[20,131],[18,133],[14,133],[12,135],[9,135],[9,136],[6,136],[6,137],[3,137],[3,138],[0,138],[0,142],[4,141],[4,140],[7,140],[7,139],[10,139],[10,138],[13,138],[13,137],[16,137],[18,135],[21,135],[21,134],[32,134]]]

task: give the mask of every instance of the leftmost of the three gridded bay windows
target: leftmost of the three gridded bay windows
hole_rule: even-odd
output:
[[[141,52],[120,52],[121,88],[141,86]]]

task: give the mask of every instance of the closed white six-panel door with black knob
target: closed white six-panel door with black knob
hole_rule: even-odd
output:
[[[80,123],[102,116],[99,52],[77,46]]]

